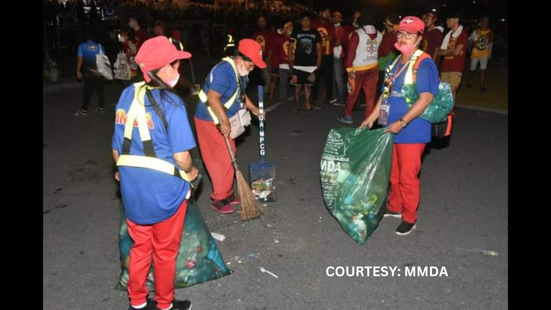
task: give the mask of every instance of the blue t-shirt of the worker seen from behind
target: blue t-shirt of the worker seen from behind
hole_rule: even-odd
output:
[[[152,90],[152,94],[168,122],[167,132],[163,121],[155,113],[146,96],[145,113],[155,154],[158,158],[176,165],[172,154],[188,151],[196,146],[185,104],[174,93],[164,92],[162,99],[161,90]],[[111,148],[116,149],[119,154],[122,154],[126,116],[133,99],[134,85],[130,85],[123,90],[116,107],[115,132]],[[130,154],[144,155],[137,125],[132,131]],[[126,217],[140,225],[154,224],[170,218],[178,211],[190,190],[190,184],[187,181],[164,172],[125,166],[118,167],[118,171]]]

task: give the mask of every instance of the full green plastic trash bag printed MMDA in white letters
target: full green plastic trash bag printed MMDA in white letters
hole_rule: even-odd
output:
[[[367,242],[384,212],[393,134],[385,129],[332,129],[321,157],[327,210],[356,243]]]

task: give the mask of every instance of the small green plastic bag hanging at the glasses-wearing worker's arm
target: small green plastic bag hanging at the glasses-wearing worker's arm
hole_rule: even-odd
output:
[[[402,87],[404,97],[406,98],[406,105],[409,108],[419,99],[417,93],[417,84],[406,84]],[[446,120],[448,114],[453,109],[453,93],[451,91],[450,83],[440,82],[438,85],[438,93],[434,96],[433,101],[426,107],[421,117],[433,124],[443,122]]]

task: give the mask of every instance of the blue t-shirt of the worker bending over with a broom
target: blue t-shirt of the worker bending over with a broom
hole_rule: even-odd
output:
[[[241,81],[241,89],[246,89],[247,77],[239,77],[239,79]],[[237,87],[235,71],[227,61],[218,63],[218,65],[214,66],[214,68],[210,70],[203,84],[203,92],[207,94],[211,89],[222,95],[222,98],[220,98],[222,100],[222,104],[228,101],[235,93],[235,89],[237,89],[236,100],[230,108],[226,110],[226,115],[228,115],[228,117],[234,116],[239,110],[239,97],[241,95],[241,89]],[[208,113],[207,105],[201,102],[201,100],[199,100],[199,103],[197,104],[195,116],[203,121],[213,121],[212,116]]]

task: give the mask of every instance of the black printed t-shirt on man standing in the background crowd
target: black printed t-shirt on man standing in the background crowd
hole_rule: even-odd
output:
[[[291,42],[295,42],[295,66],[316,66],[316,44],[321,43],[320,33],[314,28],[310,30],[296,29],[291,34]]]

